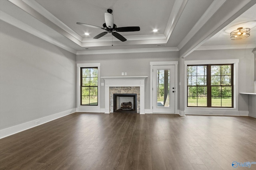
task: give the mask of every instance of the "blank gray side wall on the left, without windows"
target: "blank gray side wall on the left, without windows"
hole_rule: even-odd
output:
[[[0,129],[76,108],[76,55],[0,22]]]

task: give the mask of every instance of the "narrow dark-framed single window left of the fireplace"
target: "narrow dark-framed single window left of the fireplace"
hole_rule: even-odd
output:
[[[81,105],[98,106],[98,67],[81,67]]]

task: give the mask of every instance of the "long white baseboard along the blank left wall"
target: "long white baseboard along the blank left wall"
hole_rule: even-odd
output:
[[[22,123],[22,124],[19,124],[19,125],[16,125],[16,126],[8,127],[6,129],[2,129],[2,130],[0,130],[0,139],[2,139],[4,137],[8,137],[10,135],[14,135],[15,133],[25,131],[25,130],[30,129],[32,127],[36,127],[38,125],[42,125],[42,124],[47,123],[49,121],[53,121],[55,119],[58,119],[60,117],[63,117],[63,116],[66,116],[66,115],[69,115],[69,114],[72,114],[72,113],[75,113],[75,112],[76,112],[76,108],[69,109],[69,110],[66,110],[66,111],[62,111],[60,113],[56,113],[56,114],[53,114],[53,115],[49,115],[49,116],[46,116],[46,117],[42,117],[42,118],[39,118],[39,119],[36,119],[36,120],[29,121],[29,122],[26,122],[26,123]],[[36,124],[36,122],[38,124]]]

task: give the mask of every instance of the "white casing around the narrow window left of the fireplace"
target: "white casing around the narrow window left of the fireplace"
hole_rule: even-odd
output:
[[[100,112],[100,63],[78,63],[76,64],[77,66],[77,112]],[[86,105],[81,105],[81,98],[80,98],[80,91],[81,91],[81,68],[82,67],[98,67],[98,106],[86,106]]]

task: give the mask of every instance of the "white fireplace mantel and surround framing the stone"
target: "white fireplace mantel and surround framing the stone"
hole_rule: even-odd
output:
[[[110,113],[109,87],[140,87],[140,114],[145,114],[145,79],[148,76],[100,77],[105,80],[105,113]]]

